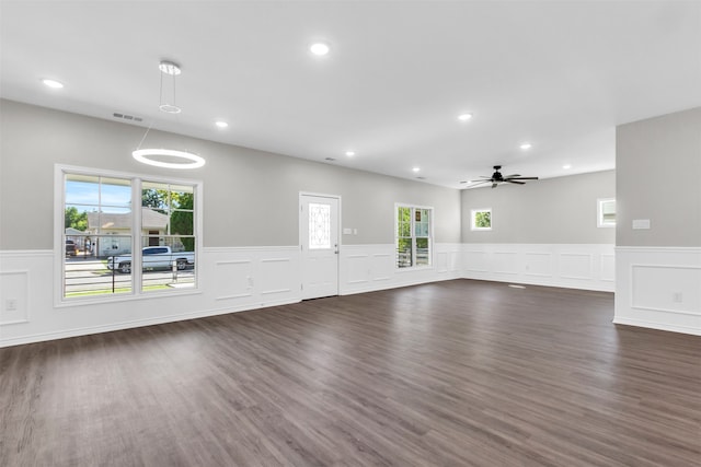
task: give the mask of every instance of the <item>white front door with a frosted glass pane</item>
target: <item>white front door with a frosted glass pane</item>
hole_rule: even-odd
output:
[[[338,294],[338,198],[299,196],[302,300]]]

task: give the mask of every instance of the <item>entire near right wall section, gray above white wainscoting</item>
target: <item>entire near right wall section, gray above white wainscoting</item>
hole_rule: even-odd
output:
[[[701,335],[701,107],[616,133],[613,323]]]

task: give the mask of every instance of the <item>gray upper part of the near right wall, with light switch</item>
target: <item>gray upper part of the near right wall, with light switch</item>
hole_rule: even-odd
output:
[[[616,244],[701,246],[701,107],[621,125],[616,139]]]

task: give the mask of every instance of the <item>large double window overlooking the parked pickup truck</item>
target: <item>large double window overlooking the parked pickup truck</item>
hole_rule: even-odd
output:
[[[199,185],[150,178],[57,167],[61,300],[195,288]]]

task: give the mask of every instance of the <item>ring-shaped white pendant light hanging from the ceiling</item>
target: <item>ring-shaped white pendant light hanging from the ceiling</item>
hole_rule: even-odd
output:
[[[180,66],[172,61],[161,61],[158,68],[159,70],[161,70],[159,109],[166,114],[180,114],[183,109],[177,106],[175,101],[175,77],[181,73]],[[164,94],[168,94],[168,92],[163,91],[164,79],[166,81],[166,84],[168,81],[170,81],[170,89],[172,90],[172,93],[169,94],[168,100],[163,97]],[[141,138],[139,145],[135,151],[131,152],[134,159],[136,159],[140,163],[164,168],[197,168],[205,165],[205,160],[192,152],[176,151],[173,149],[141,149],[141,144],[143,144],[143,141],[146,140],[146,137],[149,135],[150,130],[151,127],[149,126],[149,128],[146,130],[146,133],[143,135],[143,138]]]

